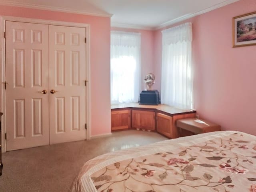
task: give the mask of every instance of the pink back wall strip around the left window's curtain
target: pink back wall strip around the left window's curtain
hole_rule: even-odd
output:
[[[144,77],[154,73],[154,31],[112,27],[111,30],[140,33],[141,38],[141,89],[146,88]],[[156,79],[158,81],[158,79]],[[154,88],[155,86],[153,86]]]

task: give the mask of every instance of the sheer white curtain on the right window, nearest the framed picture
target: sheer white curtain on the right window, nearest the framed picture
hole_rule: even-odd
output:
[[[161,103],[192,109],[192,23],[163,30],[162,46]]]

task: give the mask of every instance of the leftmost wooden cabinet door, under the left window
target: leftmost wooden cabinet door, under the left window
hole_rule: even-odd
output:
[[[131,128],[131,110],[115,110],[111,112],[111,130]]]

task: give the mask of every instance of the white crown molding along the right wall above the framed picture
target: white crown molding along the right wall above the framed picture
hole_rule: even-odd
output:
[[[168,21],[168,22],[165,22],[165,23],[163,23],[163,24],[160,24],[159,26],[157,26],[156,28],[154,28],[154,30],[158,30],[158,29],[161,29],[161,28],[170,26],[170,25],[172,25],[172,24],[175,24],[175,23],[184,21],[184,20],[186,20],[186,19],[190,19],[190,18],[192,18],[192,17],[195,17],[195,16],[198,16],[198,15],[204,14],[204,13],[206,13],[206,12],[210,12],[210,11],[212,11],[212,10],[214,10],[214,9],[218,9],[218,8],[220,8],[220,7],[224,7],[224,6],[228,5],[228,4],[232,4],[232,3],[237,2],[237,1],[239,1],[239,0],[226,0],[226,1],[222,2],[222,3],[216,4],[216,5],[214,5],[214,6],[211,6],[211,7],[209,7],[209,8],[206,8],[206,9],[201,10],[201,11],[199,11],[199,12],[195,12],[195,13],[192,13],[192,14],[186,14],[186,15],[184,15],[184,16],[181,16],[181,17],[172,19],[172,20],[170,20],[170,21]]]

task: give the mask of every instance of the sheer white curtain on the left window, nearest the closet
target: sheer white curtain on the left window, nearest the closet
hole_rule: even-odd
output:
[[[140,92],[140,33],[111,31],[111,104],[138,102]]]

